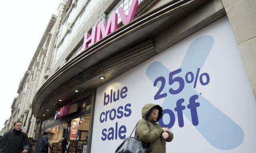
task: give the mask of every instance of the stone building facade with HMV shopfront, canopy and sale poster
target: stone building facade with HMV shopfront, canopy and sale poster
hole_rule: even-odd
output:
[[[29,137],[47,131],[53,153],[63,137],[69,152],[111,153],[154,103],[174,133],[167,152],[253,152],[255,8],[254,0],[64,0],[2,133],[20,120]]]

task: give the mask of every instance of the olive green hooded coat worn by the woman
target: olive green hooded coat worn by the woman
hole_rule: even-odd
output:
[[[166,153],[166,141],[170,142],[173,139],[172,132],[168,132],[169,137],[165,140],[162,138],[162,133],[164,130],[157,123],[152,123],[150,121],[145,120],[147,112],[153,107],[155,104],[146,104],[142,108],[142,119],[139,120],[138,125],[136,127],[136,137],[145,143],[149,143],[152,149],[152,153]],[[147,123],[148,122],[148,123]],[[149,124],[149,127],[148,127]]]

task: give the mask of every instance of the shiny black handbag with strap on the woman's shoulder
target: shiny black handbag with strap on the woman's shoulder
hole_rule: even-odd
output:
[[[134,129],[132,130],[132,133]],[[136,131],[134,137],[131,137],[132,133],[130,137],[126,137],[124,141],[117,147],[115,153],[151,153],[150,146],[136,138]]]

